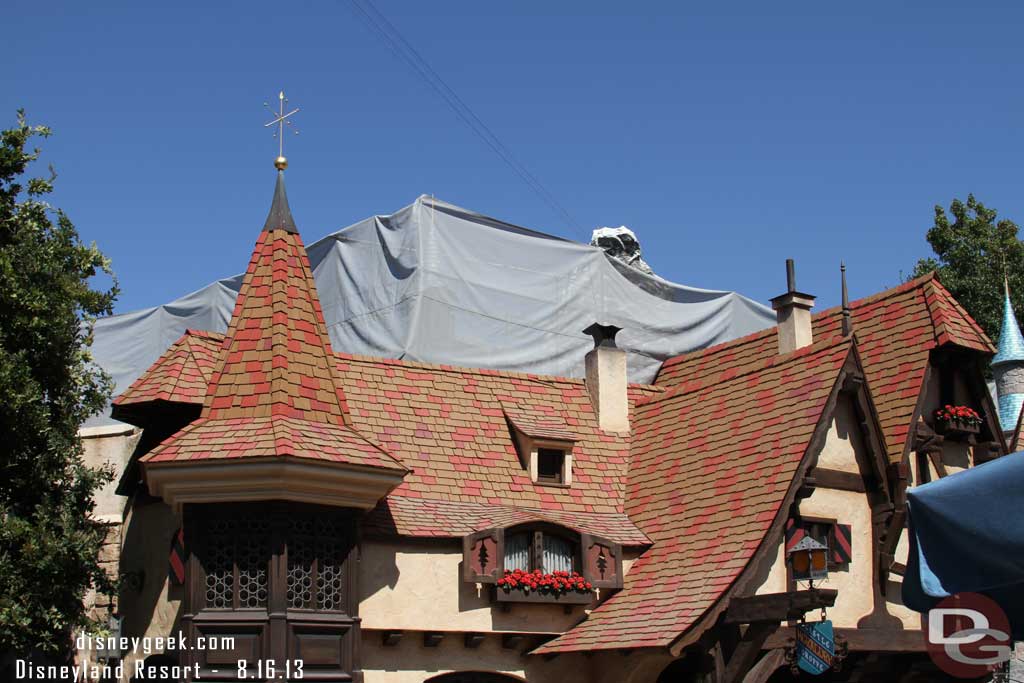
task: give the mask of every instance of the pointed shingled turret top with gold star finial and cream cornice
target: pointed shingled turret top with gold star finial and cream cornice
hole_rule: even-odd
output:
[[[294,113],[282,106],[269,125],[283,131]],[[370,509],[408,472],[352,428],[309,257],[288,206],[283,153],[274,166],[270,213],[203,412],[139,461],[151,494],[177,510],[269,500]]]

